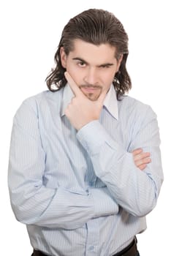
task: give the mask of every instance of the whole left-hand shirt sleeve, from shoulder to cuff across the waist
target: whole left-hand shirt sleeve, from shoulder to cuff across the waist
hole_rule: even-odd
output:
[[[39,133],[39,111],[26,100],[15,115],[9,151],[9,195],[15,217],[26,225],[76,229],[89,219],[118,212],[106,188],[85,193],[45,187],[46,154]]]

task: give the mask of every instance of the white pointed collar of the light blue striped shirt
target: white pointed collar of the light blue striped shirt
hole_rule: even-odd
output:
[[[67,105],[69,105],[71,102],[72,97],[74,97],[72,89],[70,88],[69,84],[66,83],[61,105],[61,116],[65,115],[65,110]],[[109,113],[118,120],[118,101],[113,84],[110,86],[110,90],[107,92],[107,95],[104,99],[104,107],[107,108]]]

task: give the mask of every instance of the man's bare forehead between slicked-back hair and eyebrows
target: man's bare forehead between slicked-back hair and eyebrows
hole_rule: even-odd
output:
[[[75,39],[69,56],[83,59],[91,64],[102,64],[115,61],[115,51],[115,47],[109,44],[94,45],[81,39]]]

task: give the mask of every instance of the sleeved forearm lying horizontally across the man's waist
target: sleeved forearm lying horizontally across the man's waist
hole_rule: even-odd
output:
[[[76,229],[89,219],[117,214],[118,205],[106,188],[90,189],[85,194],[59,187],[20,186],[9,188],[15,217],[25,224]]]

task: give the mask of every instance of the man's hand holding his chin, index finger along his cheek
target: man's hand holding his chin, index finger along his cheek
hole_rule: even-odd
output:
[[[99,119],[107,91],[102,91],[99,98],[92,101],[83,94],[68,72],[65,72],[65,77],[75,94],[65,110],[65,115],[69,118],[73,127],[79,130],[89,122]]]

